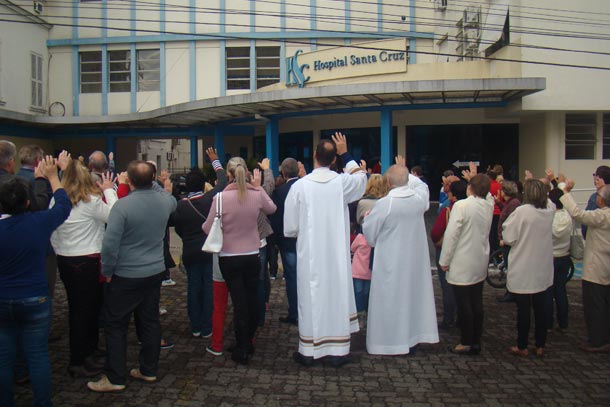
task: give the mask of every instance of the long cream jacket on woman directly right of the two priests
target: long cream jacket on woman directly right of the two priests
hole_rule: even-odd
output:
[[[449,284],[472,285],[485,280],[494,205],[491,194],[486,199],[471,195],[453,205],[439,260],[441,266],[449,266]]]

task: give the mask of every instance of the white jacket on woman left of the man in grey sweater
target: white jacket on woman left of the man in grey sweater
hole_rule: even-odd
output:
[[[89,202],[81,201],[72,207],[68,219],[51,235],[57,255],[87,256],[101,252],[108,215],[118,199],[112,188],[104,190],[104,196],[106,202],[92,195]]]

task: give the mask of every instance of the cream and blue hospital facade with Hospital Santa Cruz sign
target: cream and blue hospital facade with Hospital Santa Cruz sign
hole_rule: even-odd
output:
[[[430,183],[610,160],[610,18],[582,0],[0,0],[0,137],[181,171],[348,135]],[[431,188],[431,191],[438,188]],[[434,196],[434,194],[433,194]]]

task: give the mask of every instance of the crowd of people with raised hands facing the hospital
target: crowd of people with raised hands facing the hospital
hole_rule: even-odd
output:
[[[585,210],[570,193],[574,182],[551,170],[541,179],[527,172],[524,182],[505,180],[501,166],[483,174],[471,164],[461,178],[446,171],[431,230],[442,297],[437,323],[430,259],[422,255],[430,197],[421,168],[409,172],[398,156],[385,174],[371,174],[341,133],[320,140],[311,173],[288,157],[277,180],[268,159],[250,171],[234,157],[225,170],[214,148],[206,154],[216,180],[193,169],[185,177],[187,196],[176,198],[167,172],[157,177],[151,162],[135,160],[117,173],[113,157],[101,151],[85,165],[66,151],[45,156],[32,145],[17,154],[14,144],[0,140],[0,405],[14,405],[13,384],[26,376],[35,404],[51,405],[48,340],[57,270],[68,301],[68,373],[99,376],[87,383],[96,392],[121,391],[128,376],[157,380],[160,349],[168,346],[160,287],[175,265],[169,227],[182,239],[190,335],[211,338],[207,352],[230,352],[235,362],[249,363],[265,322],[277,247],[288,302],[279,320],[298,327],[294,361],[339,367],[351,361],[351,334],[364,326],[370,354],[413,353],[421,343],[439,342],[439,328],[454,326],[460,341],[449,351],[479,354],[483,284],[490,253],[500,247],[517,307],[517,340],[509,351],[528,355],[533,309],[534,351],[543,356],[555,307],[557,329],[568,329],[565,282],[578,222],[586,228],[583,349],[610,352],[606,166],[594,174],[596,192]],[[221,247],[203,251],[217,222]],[[225,346],[229,296],[235,338]],[[140,353],[139,366],[128,371],[132,315]]]

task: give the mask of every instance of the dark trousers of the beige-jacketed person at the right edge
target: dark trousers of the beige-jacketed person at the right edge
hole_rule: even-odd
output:
[[[589,345],[610,344],[610,285],[583,280],[582,303]]]

